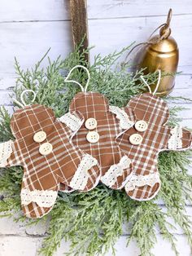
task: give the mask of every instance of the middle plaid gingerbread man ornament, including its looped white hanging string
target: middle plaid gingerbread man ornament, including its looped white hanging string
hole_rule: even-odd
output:
[[[89,76],[87,68],[76,66],[72,68],[68,77],[75,68],[84,68]],[[75,82],[81,86],[76,81],[68,80],[68,77],[65,82]],[[69,113],[81,113],[82,116],[82,125],[76,127],[72,142],[98,160],[102,169],[101,181],[103,183],[109,188],[120,189],[130,179],[132,166],[129,157],[120,150],[116,143],[116,135],[120,132],[116,114],[120,120],[125,120],[125,123],[120,121],[120,124],[126,129],[133,126],[133,122],[123,110],[116,113],[117,109],[111,108],[103,95],[86,92],[88,84],[89,79],[85,89],[81,86],[82,92],[76,94],[70,104]],[[62,119],[61,117],[60,121],[65,122]]]

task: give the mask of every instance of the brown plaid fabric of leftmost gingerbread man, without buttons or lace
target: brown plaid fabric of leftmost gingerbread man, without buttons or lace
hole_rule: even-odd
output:
[[[49,155],[42,156],[39,152],[41,143],[33,140],[37,131],[46,132],[46,140],[53,146]],[[55,118],[50,108],[35,104],[16,111],[11,119],[11,131],[15,136],[12,144],[11,157],[7,166],[24,166],[22,191],[57,192],[60,183],[69,186],[72,177],[81,163],[84,152],[70,141],[72,131]],[[88,170],[89,179],[84,191],[94,188],[100,177],[100,168],[93,166]],[[45,198],[46,199],[46,198]],[[41,207],[33,201],[22,205],[24,214],[30,218],[40,218],[53,207]]]

